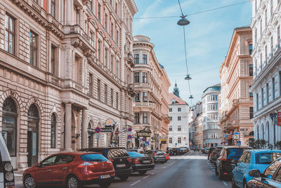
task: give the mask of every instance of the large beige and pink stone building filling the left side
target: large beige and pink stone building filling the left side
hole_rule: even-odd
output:
[[[126,146],[137,11],[133,0],[0,1],[0,129],[15,169],[62,150]],[[97,139],[107,118],[115,130]]]

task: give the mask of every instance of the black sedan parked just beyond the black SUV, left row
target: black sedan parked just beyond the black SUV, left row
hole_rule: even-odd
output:
[[[150,156],[144,156],[137,152],[128,152],[132,160],[133,173],[138,172],[145,175],[148,170],[153,170],[155,167],[154,159]]]

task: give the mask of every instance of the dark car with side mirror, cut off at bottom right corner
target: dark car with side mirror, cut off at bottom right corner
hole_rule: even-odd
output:
[[[254,177],[247,183],[249,188],[281,187],[281,158],[268,165],[262,174],[258,169],[254,169],[249,172],[249,175]]]

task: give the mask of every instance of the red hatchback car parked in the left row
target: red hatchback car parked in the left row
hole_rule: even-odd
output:
[[[22,181],[25,188],[37,185],[79,188],[84,184],[109,187],[114,177],[112,163],[100,153],[69,152],[48,156],[41,163],[28,168],[22,175]]]

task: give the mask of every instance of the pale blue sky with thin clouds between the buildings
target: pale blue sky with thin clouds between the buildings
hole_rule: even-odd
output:
[[[243,4],[237,4],[245,2]],[[181,0],[183,13],[189,15],[200,11],[237,4],[206,13],[189,15],[190,25],[185,26],[188,70],[191,94],[187,73],[183,26],[176,23],[178,18],[156,18],[180,16],[178,0],[135,0],[138,13],[133,20],[133,36],[145,35],[155,44],[155,54],[171,82],[169,92],[178,84],[180,96],[188,104],[195,105],[202,101],[204,89],[220,82],[219,68],[228,52],[235,27],[251,25],[251,2],[249,0]],[[145,18],[145,19],[140,19]]]

